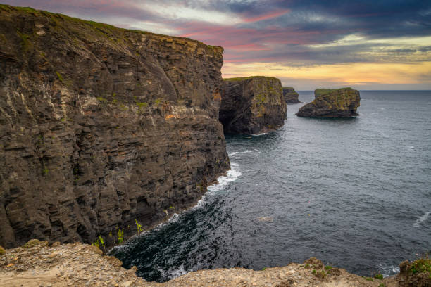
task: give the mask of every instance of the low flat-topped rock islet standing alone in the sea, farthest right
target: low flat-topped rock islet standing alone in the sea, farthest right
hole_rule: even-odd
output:
[[[354,117],[360,106],[359,91],[351,88],[316,89],[314,101],[299,108],[299,117]]]

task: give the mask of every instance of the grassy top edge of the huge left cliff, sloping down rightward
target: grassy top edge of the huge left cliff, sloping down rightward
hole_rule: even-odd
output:
[[[161,37],[161,38],[166,38],[166,39],[178,39],[178,40],[182,40],[182,41],[194,42],[196,44],[203,44],[203,45],[207,46],[209,49],[216,49],[216,50],[220,49],[221,53],[223,53],[223,51],[224,51],[222,46],[211,46],[211,45],[204,44],[203,42],[200,42],[198,40],[194,40],[194,39],[190,39],[190,38],[186,38],[186,37],[168,36],[165,34],[157,34],[157,33],[146,32],[146,31],[142,31],[142,30],[125,29],[125,28],[115,27],[113,25],[109,25],[106,23],[94,22],[92,20],[82,20],[80,18],[70,17],[68,15],[64,15],[61,13],[51,13],[48,11],[37,10],[37,9],[31,8],[31,7],[20,7],[20,6],[11,6],[11,5],[6,5],[6,4],[0,4],[0,13],[1,13],[1,11],[15,12],[15,13],[21,13],[21,14],[28,14],[28,15],[45,16],[47,18],[52,18],[54,20],[54,22],[56,22],[56,19],[61,18],[63,20],[70,20],[73,22],[83,23],[83,24],[89,25],[95,29],[101,30],[101,32],[105,32],[105,31],[109,31],[109,32],[132,32],[132,33],[151,35],[154,37]]]

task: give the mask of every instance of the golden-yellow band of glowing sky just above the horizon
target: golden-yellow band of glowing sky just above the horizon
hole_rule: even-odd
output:
[[[310,81],[316,87],[331,84],[431,84],[431,61],[418,63],[345,63],[337,65],[288,66],[275,63],[225,63],[223,77],[267,75]],[[288,84],[285,82],[285,84]]]

